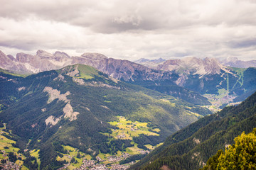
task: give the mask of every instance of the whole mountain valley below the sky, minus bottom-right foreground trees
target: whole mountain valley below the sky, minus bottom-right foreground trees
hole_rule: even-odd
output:
[[[256,127],[254,62],[136,62],[0,51],[0,169],[199,169]]]

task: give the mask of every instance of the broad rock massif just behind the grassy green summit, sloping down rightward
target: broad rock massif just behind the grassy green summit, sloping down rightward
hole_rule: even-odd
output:
[[[172,72],[157,71],[128,60],[115,60],[100,54],[85,53],[72,59],[73,64],[90,65],[115,79],[124,81],[173,79],[174,77]]]

